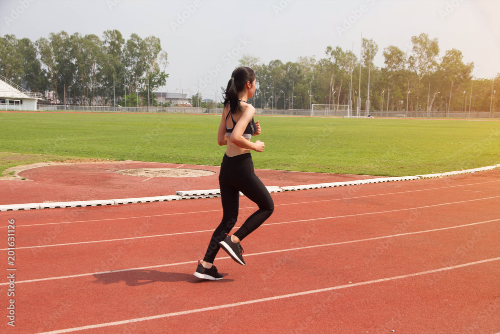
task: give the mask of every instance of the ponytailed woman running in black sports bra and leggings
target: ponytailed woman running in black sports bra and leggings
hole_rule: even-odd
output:
[[[220,146],[227,145],[220,165],[219,186],[222,201],[222,221],[215,229],[203,261],[198,260],[194,276],[204,279],[221,279],[213,260],[222,247],[234,261],[245,265],[243,248],[239,244],[259,227],[274,210],[274,203],[264,184],[253,172],[250,151],[262,152],[264,143],[250,141],[260,134],[260,125],[253,121],[255,108],[247,100],[255,92],[255,72],[248,67],[238,67],[232,72],[224,94],[224,108],[217,133]],[[228,233],[238,218],[239,192],[253,201],[258,210],[249,216],[232,235]]]

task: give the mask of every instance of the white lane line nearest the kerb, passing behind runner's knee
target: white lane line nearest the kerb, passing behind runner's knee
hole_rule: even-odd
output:
[[[398,195],[398,194],[405,194],[405,193],[419,192],[419,191],[428,191],[428,190],[440,190],[440,189],[446,189],[446,188],[464,187],[464,186],[479,185],[479,184],[492,183],[492,182],[500,182],[500,180],[487,181],[487,182],[479,182],[479,183],[471,183],[471,184],[461,184],[461,185],[448,186],[448,187],[439,187],[439,188],[418,189],[418,190],[398,191],[398,192],[390,192],[390,193],[383,193],[383,194],[363,195],[363,196],[355,196],[355,197],[342,197],[342,198],[333,198],[333,199],[321,199],[321,200],[317,200],[317,201],[305,201],[305,202],[274,204],[274,206],[311,204],[311,203],[332,202],[332,201],[346,201],[346,200],[358,199],[358,198],[367,198],[367,197],[375,197],[375,196],[386,196],[386,195]],[[254,208],[256,208],[256,206],[242,207],[240,209],[243,210],[243,209],[254,209]],[[106,218],[106,219],[91,219],[91,220],[78,220],[78,221],[63,221],[63,222],[44,223],[44,224],[28,224],[28,225],[19,225],[19,224],[16,224],[16,227],[44,226],[44,225],[55,225],[55,224],[88,223],[88,222],[124,220],[124,219],[141,219],[141,218],[153,218],[153,217],[164,217],[164,216],[170,216],[170,215],[194,214],[194,213],[218,212],[218,211],[222,211],[222,209],[218,209],[218,210],[206,210],[206,211],[177,212],[177,213],[163,213],[163,214],[156,214],[156,215],[149,215],[149,216],[134,216],[134,217],[124,217],[124,218]],[[0,226],[0,228],[7,228],[7,226]]]

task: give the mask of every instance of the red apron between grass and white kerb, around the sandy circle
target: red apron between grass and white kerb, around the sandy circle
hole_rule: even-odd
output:
[[[116,173],[118,170],[133,168],[204,169],[217,174],[192,178],[148,178]],[[175,195],[177,190],[218,189],[219,169],[217,166],[137,161],[38,167],[19,173],[19,176],[27,179],[25,181],[0,180],[0,205],[166,196]],[[377,177],[277,170],[256,170],[256,173],[265,185],[279,187]]]

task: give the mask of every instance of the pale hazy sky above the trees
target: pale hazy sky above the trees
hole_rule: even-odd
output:
[[[155,36],[168,54],[163,92],[221,95],[242,54],[295,62],[325,57],[326,47],[353,50],[361,36],[383,49],[410,53],[411,37],[437,38],[439,57],[457,49],[475,78],[500,73],[498,0],[1,0],[0,36],[36,41],[50,33],[95,34],[116,29],[127,40]],[[258,80],[258,78],[257,78]],[[158,91],[160,91],[158,90]]]

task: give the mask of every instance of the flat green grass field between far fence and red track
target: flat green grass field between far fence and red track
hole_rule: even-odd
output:
[[[500,122],[256,116],[255,168],[403,176],[500,163]],[[74,158],[219,165],[220,116],[0,113],[0,172]],[[8,153],[7,153],[8,152]],[[17,154],[12,154],[17,153]]]

